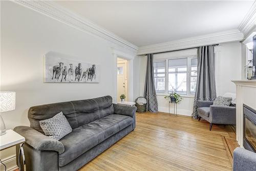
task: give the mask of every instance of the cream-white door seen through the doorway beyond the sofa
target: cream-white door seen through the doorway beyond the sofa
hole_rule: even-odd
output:
[[[120,100],[121,94],[125,94],[125,96],[127,96],[125,74],[126,74],[125,63],[118,63],[117,64],[117,101],[121,101]]]

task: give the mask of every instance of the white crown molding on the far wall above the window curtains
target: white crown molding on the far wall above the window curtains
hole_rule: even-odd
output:
[[[168,41],[161,44],[142,46],[139,47],[137,55],[195,48],[198,46],[214,45],[223,42],[240,41],[242,39],[244,39],[243,33],[241,33],[238,29],[232,29],[202,36]]]

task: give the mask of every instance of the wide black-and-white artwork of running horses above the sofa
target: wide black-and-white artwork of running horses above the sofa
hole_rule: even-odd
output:
[[[72,58],[72,59],[71,59]],[[57,52],[45,55],[45,82],[99,82],[99,65]]]

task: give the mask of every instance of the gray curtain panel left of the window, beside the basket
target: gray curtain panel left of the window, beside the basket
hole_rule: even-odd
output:
[[[154,113],[158,112],[158,103],[154,80],[153,54],[147,55],[144,97],[147,102],[146,110]]]

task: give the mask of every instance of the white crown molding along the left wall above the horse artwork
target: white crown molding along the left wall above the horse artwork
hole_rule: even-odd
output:
[[[91,35],[104,38],[108,41],[113,42],[119,46],[127,49],[137,50],[138,47],[133,45],[131,42],[115,35],[114,33],[94,24],[90,20],[84,19],[71,11],[53,3],[50,1],[12,1],[24,7],[30,8],[41,14],[47,15],[51,18],[58,20],[59,22],[65,23],[83,32]]]

